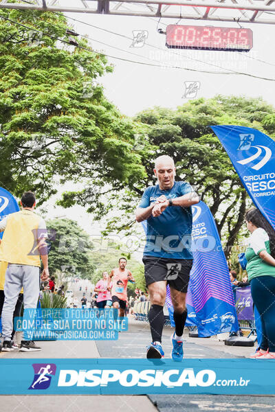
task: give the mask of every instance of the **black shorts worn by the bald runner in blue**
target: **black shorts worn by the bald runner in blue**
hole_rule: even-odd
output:
[[[187,293],[192,259],[166,259],[155,256],[144,256],[144,276],[146,286],[166,280],[175,290]]]

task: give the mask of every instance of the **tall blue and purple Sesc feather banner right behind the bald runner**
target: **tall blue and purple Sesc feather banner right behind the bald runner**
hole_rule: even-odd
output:
[[[197,325],[201,337],[239,330],[228,264],[209,207],[192,206],[193,265],[186,296],[186,325]],[[142,222],[146,232],[146,222]],[[174,325],[170,290],[166,294],[170,322]]]

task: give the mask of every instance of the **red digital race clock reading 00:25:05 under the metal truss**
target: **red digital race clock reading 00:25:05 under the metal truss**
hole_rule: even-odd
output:
[[[250,29],[170,24],[166,28],[170,49],[228,50],[249,52],[253,47]]]

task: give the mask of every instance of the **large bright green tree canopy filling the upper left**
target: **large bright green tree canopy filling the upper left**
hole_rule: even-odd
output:
[[[34,190],[43,201],[60,177],[82,182],[63,204],[81,201],[92,211],[95,182],[121,190],[144,170],[132,151],[133,122],[98,82],[113,68],[92,49],[64,44],[67,28],[63,14],[0,10],[0,185],[17,196]]]

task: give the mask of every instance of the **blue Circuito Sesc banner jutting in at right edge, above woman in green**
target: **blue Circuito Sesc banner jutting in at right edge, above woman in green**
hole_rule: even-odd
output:
[[[219,137],[254,205],[275,229],[275,142],[243,126],[210,126]]]

